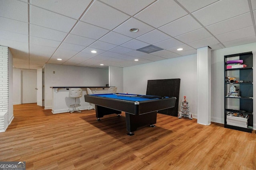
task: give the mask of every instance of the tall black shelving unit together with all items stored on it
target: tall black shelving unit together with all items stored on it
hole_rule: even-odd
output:
[[[224,127],[252,133],[252,130],[253,130],[253,55],[252,55],[252,52],[225,55],[224,62],[225,62]],[[238,116],[233,115],[233,113],[235,113],[235,115],[237,114]]]

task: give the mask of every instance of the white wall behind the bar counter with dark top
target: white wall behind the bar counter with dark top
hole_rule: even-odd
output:
[[[106,86],[108,84],[107,69],[45,64],[44,74],[44,109],[52,109],[52,88],[50,87]]]

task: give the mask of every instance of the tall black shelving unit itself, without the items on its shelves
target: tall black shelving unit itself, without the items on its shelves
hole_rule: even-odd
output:
[[[227,69],[227,61],[230,60],[243,60],[243,64],[246,64],[245,68],[231,68]],[[225,55],[225,104],[224,104],[224,127],[235,129],[239,131],[245,131],[252,133],[253,131],[253,55],[252,52]],[[239,97],[230,97],[227,96],[230,91],[232,84],[226,83],[226,76],[236,77],[236,80],[243,80],[244,82],[234,83],[234,86],[237,86],[238,92],[240,93]],[[239,110],[239,111],[238,111]],[[230,112],[242,113],[248,115],[247,127],[239,127],[236,125],[227,124],[227,114]]]

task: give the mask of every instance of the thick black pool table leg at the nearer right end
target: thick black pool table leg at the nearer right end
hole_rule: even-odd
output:
[[[134,135],[133,131],[136,131],[138,127],[143,127],[146,125],[154,126],[156,123],[156,111],[142,114],[142,115],[132,115],[130,113],[125,113],[126,117],[126,130],[129,132],[127,135]]]

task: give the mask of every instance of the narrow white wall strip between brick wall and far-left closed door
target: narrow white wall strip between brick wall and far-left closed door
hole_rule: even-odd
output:
[[[13,68],[13,104],[21,104],[21,70]]]

